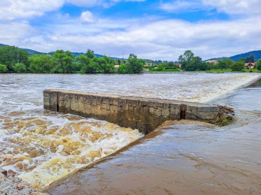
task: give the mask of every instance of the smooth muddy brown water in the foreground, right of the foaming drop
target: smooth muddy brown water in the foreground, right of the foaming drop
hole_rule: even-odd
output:
[[[53,183],[58,194],[261,194],[261,80],[214,103],[226,127],[177,122]]]

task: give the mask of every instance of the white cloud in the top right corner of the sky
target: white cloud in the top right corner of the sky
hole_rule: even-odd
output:
[[[260,15],[260,0],[203,0],[204,5],[217,8],[219,12],[227,14]]]

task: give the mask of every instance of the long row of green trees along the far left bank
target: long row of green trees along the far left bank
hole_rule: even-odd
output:
[[[115,64],[119,68],[115,68]],[[92,50],[73,56],[71,51],[57,50],[52,54],[29,55],[17,47],[0,47],[0,73],[122,73],[143,72],[144,60],[130,54],[127,60],[96,57]]]

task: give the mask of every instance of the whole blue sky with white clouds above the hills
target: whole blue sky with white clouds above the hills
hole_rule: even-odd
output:
[[[1,0],[0,43],[207,60],[261,49],[261,0]]]

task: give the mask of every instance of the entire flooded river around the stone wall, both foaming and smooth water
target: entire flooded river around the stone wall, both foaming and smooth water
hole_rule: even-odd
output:
[[[106,121],[43,110],[42,92],[47,88],[205,102],[256,77],[187,73],[0,75],[0,167],[41,189],[143,136]],[[66,185],[49,192],[260,193],[259,96],[260,88],[256,87],[216,100],[236,107],[238,120],[233,125],[167,125],[109,161],[79,172],[80,177],[68,177]]]

